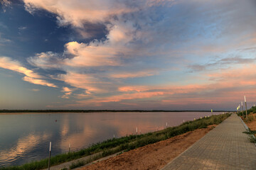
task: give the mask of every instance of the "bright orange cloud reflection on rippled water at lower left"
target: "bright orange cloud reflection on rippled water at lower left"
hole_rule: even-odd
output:
[[[29,135],[19,138],[14,147],[0,150],[0,162],[8,164],[17,157],[22,157],[24,154],[28,154],[33,151],[35,147],[40,145],[41,142],[49,140],[51,136],[50,133],[46,132],[43,132],[43,134],[34,134],[31,132]],[[4,164],[0,164],[0,166]]]

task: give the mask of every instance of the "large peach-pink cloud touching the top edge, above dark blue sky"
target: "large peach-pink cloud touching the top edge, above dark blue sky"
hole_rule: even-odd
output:
[[[121,13],[129,13],[137,10],[136,8],[127,8],[124,3],[108,0],[23,0],[26,10],[33,13],[36,9],[45,9],[58,15],[57,19],[60,25],[72,24],[75,27],[82,27],[84,21],[104,22],[110,19],[110,16]]]

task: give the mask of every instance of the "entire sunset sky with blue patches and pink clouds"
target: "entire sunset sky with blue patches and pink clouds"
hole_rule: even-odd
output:
[[[250,108],[255,18],[255,0],[0,0],[0,109]]]

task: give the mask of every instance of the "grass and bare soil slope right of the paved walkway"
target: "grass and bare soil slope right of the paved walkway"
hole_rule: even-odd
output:
[[[252,106],[252,108],[250,108],[249,110],[247,110],[247,119],[246,119],[246,112],[245,111],[240,111],[238,113],[239,116],[242,117],[242,120],[248,124],[248,123],[256,123],[256,106]],[[243,116],[242,116],[243,115]],[[250,142],[256,143],[256,138],[252,137],[251,135],[255,135],[256,136],[256,130],[250,130],[248,132],[244,132],[247,135],[250,135]]]

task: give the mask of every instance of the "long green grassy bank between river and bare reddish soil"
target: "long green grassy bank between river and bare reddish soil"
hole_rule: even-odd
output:
[[[169,139],[183,133],[193,131],[199,128],[207,128],[208,125],[218,125],[223,120],[230,116],[229,113],[222,115],[212,115],[210,118],[202,118],[194,121],[188,121],[174,128],[166,128],[164,130],[159,130],[157,132],[149,132],[143,135],[129,135],[126,137],[113,138],[111,140],[106,140],[104,142],[99,142],[88,148],[81,149],[77,152],[69,152],[66,154],[59,154],[55,157],[50,158],[50,165],[58,165],[64,162],[70,162],[71,160],[85,157],[91,154],[99,153],[97,156],[92,157],[87,162],[78,162],[70,166],[73,169],[77,166],[82,166],[94,160],[100,159],[102,157],[107,157],[110,154],[114,154],[120,151],[127,152],[131,149],[136,149],[138,147],[143,147],[161,140]],[[33,170],[33,169],[44,169],[48,167],[48,159],[42,159],[41,161],[31,162],[28,164],[23,164],[21,166],[9,166],[0,167],[0,170]]]

